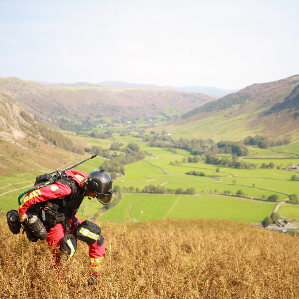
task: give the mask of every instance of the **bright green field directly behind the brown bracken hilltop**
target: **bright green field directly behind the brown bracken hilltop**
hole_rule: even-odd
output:
[[[101,220],[140,222],[165,218],[232,219],[257,222],[270,215],[275,204],[229,196],[125,194]]]

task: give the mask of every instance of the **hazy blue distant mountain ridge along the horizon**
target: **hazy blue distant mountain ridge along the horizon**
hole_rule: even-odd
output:
[[[207,94],[210,97],[224,97],[227,94],[236,92],[237,90],[220,89],[217,87],[205,87],[205,86],[183,86],[176,87],[171,85],[158,86],[155,84],[139,84],[139,83],[128,83],[122,81],[105,81],[96,84],[77,82],[77,83],[51,83],[51,82],[38,82],[49,87],[78,87],[78,86],[95,86],[95,87],[112,87],[115,89],[125,89],[125,88],[151,88],[151,89],[174,89],[187,92],[199,92]]]

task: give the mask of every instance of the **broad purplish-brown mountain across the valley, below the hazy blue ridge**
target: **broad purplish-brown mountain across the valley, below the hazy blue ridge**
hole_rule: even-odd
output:
[[[0,89],[3,97],[25,107],[36,120],[54,126],[61,122],[96,126],[122,118],[170,120],[215,100],[206,94],[171,89],[50,88],[14,77],[0,78]]]

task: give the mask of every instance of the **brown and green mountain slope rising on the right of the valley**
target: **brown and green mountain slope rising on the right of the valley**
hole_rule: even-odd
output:
[[[163,126],[163,130],[215,140],[240,140],[252,134],[298,138],[298,86],[299,75],[254,84],[190,110]]]

